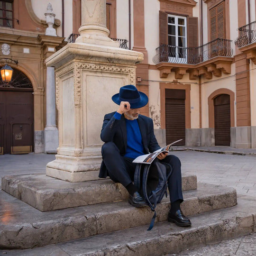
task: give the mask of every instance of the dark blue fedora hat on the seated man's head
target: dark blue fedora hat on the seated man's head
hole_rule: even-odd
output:
[[[125,85],[120,88],[119,93],[112,96],[112,101],[120,105],[121,101],[128,101],[131,109],[138,109],[146,106],[148,98],[145,93],[138,91],[134,85]]]

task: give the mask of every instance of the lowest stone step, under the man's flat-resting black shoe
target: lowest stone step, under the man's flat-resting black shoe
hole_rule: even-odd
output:
[[[253,203],[252,203],[253,202]],[[254,210],[252,210],[254,209]],[[148,226],[115,231],[90,238],[56,244],[50,251],[76,256],[163,256],[219,243],[255,232],[256,201],[239,198],[238,205],[221,210],[190,216],[191,227],[178,227],[167,221]],[[36,253],[38,249],[25,252]],[[47,254],[48,248],[40,248]],[[247,255],[244,252],[244,255]],[[214,254],[218,255],[218,254]]]

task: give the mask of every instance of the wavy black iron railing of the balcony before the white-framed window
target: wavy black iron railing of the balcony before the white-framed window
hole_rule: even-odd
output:
[[[156,48],[157,54],[153,62],[169,62],[177,64],[198,64],[217,56],[231,57],[233,50],[230,46],[231,40],[217,38],[199,47],[179,47],[161,45]]]

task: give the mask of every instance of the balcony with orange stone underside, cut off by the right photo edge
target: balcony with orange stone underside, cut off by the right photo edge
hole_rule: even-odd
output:
[[[246,54],[256,64],[256,21],[238,28],[238,38],[235,45],[240,52]]]

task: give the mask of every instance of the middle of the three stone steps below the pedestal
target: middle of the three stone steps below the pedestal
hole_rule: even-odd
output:
[[[237,202],[233,188],[204,183],[199,183],[197,190],[184,191],[183,196],[182,210],[187,216]],[[41,212],[3,191],[0,197],[0,247],[41,247],[148,225],[153,217],[149,207],[134,208],[128,201]],[[166,221],[169,208],[169,199],[165,198],[157,205],[155,221]]]

